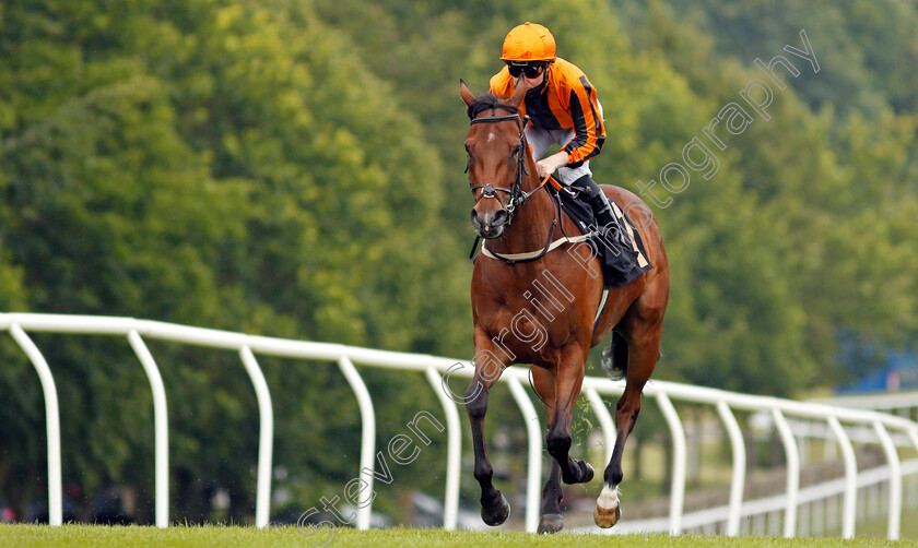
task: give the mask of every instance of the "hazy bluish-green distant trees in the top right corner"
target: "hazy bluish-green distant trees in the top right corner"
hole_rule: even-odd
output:
[[[821,71],[801,75],[803,85],[797,90],[813,106],[829,102],[845,111],[871,112],[886,105],[901,112],[918,107],[918,76],[910,70],[918,65],[915,0],[668,0],[668,4],[678,11],[678,21],[696,24],[725,57],[746,65],[756,57],[768,61],[786,44],[800,47],[797,35],[805,28],[816,40]]]

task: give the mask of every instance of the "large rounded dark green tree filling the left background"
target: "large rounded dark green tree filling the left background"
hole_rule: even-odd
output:
[[[293,2],[113,9],[59,2],[7,11],[0,93],[14,117],[4,118],[0,151],[4,309],[440,354],[464,346],[457,273],[468,266],[458,240],[436,229],[439,163],[346,39]],[[64,429],[62,443],[78,455],[66,475],[89,491],[150,477],[130,469],[133,455],[152,452],[150,424],[131,422],[143,416],[133,404],[145,412],[151,403],[136,366],[125,372],[130,358],[87,339],[52,345],[46,356],[66,367],[62,414],[93,410],[93,421]],[[237,360],[173,347],[155,356],[169,416],[181,425],[172,440],[181,513],[207,519],[208,493],[227,486],[232,516],[248,519],[255,454],[227,460],[257,438]],[[291,436],[290,452],[279,451],[301,470],[305,446],[340,454],[360,427],[342,380],[326,390],[307,368],[295,369],[272,385],[301,386],[291,396],[308,398],[305,415],[342,407],[340,420]],[[14,371],[8,390],[34,385],[27,368]],[[384,396],[426,386],[370,382]],[[304,393],[308,385],[316,390]],[[125,398],[111,398],[115,390]],[[27,393],[36,407],[37,392]],[[402,397],[392,413],[410,417],[422,405],[429,402]],[[215,432],[223,421],[239,427]],[[5,422],[0,428],[12,428]],[[4,439],[43,430],[40,416],[22,422]],[[348,463],[329,467],[318,462],[322,451],[310,453],[314,472],[331,472],[319,485],[346,479]]]

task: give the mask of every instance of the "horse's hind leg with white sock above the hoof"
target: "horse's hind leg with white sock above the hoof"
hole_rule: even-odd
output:
[[[627,320],[627,318],[626,318]],[[603,474],[602,492],[596,501],[593,520],[600,527],[611,527],[622,515],[619,504],[619,485],[622,483],[622,453],[625,441],[634,429],[637,414],[640,412],[640,393],[654,372],[660,352],[662,317],[658,321],[635,320],[625,325],[627,338],[627,371],[625,392],[619,400],[615,410],[617,438],[612,451],[612,458]],[[629,327],[629,329],[628,329]]]

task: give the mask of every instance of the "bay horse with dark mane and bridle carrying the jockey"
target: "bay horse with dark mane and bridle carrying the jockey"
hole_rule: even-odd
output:
[[[629,284],[612,287],[597,319],[603,289],[602,275],[596,276],[599,259],[586,255],[590,267],[584,267],[575,253],[565,252],[572,243],[557,241],[556,229],[565,235],[579,233],[560,214],[555,198],[540,191],[544,181],[537,175],[523,132],[526,120],[519,114],[526,86],[518,81],[508,99],[490,93],[475,97],[463,81],[459,92],[471,119],[466,139],[469,184],[475,200],[471,222],[484,238],[472,274],[475,370],[464,401],[474,444],[474,476],[481,486],[482,520],[497,526],[510,513],[507,499],[492,484],[484,443],[489,393],[504,368],[528,364],[533,388],[548,407],[546,445],[553,457],[542,490],[539,533],[564,527],[558,508],[561,481],[582,484],[593,477],[588,463],[568,455],[572,414],[589,349],[613,332],[607,353],[626,386],[615,410],[615,448],[593,512],[597,525],[611,527],[621,517],[617,487],[623,477],[625,440],[659,357],[669,299],[669,266],[659,227],[652,216],[640,227],[652,269]],[[650,211],[627,190],[602,189],[625,212],[629,204]],[[553,246],[557,248],[550,250]]]

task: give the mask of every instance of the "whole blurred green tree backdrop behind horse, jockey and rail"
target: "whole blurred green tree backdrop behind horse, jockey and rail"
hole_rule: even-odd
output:
[[[790,56],[801,75],[770,120],[725,139],[715,177],[693,172],[654,207],[672,273],[656,378],[779,396],[829,386],[845,374],[839,334],[893,348],[918,332],[918,2],[815,4],[3,1],[0,310],[469,357],[458,81],[486,88],[511,26],[546,24],[589,74],[609,130],[596,179],[633,191],[762,78],[755,58],[802,48],[805,28],[820,72]],[[58,379],[74,515],[126,485],[150,523],[152,402],[127,345],[36,339]],[[257,405],[237,357],[151,347],[173,517],[250,521]],[[340,496],[358,460],[350,389],[331,364],[263,365],[276,484],[299,509]],[[364,373],[379,446],[417,410],[440,417],[422,377]],[[0,499],[22,516],[47,493],[44,406],[10,341],[0,397]],[[513,434],[503,400],[508,418],[490,428]],[[438,441],[375,508],[405,520],[405,492],[439,497]],[[476,499],[473,483],[463,495]]]

